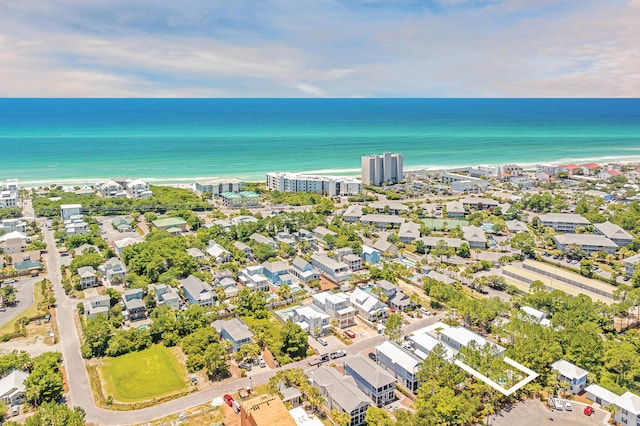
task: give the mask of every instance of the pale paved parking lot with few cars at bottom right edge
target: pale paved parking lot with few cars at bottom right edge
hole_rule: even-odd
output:
[[[562,425],[562,426],[582,426],[601,425],[606,417],[606,413],[595,410],[591,416],[585,416],[582,412],[585,404],[571,401],[572,411],[551,411],[542,402],[529,400],[513,405],[509,412],[499,411],[489,417],[487,424],[492,426],[539,426],[539,425]]]

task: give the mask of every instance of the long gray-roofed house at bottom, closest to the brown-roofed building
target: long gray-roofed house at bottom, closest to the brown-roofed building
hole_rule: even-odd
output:
[[[333,367],[322,366],[309,378],[324,397],[328,411],[337,409],[351,416],[349,426],[360,426],[365,423],[367,409],[371,399],[356,385],[351,376],[343,376]]]

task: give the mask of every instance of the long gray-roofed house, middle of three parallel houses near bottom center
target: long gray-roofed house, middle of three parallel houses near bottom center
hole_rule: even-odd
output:
[[[398,380],[378,364],[358,354],[345,360],[344,371],[353,377],[356,386],[378,407],[395,400]]]

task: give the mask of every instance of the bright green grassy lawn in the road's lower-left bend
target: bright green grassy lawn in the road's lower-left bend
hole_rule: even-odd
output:
[[[108,358],[100,367],[107,395],[121,402],[160,397],[187,388],[187,371],[161,345]]]

